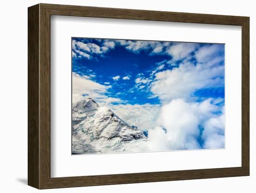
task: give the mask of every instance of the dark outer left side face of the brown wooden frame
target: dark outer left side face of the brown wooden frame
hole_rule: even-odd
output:
[[[39,5],[28,9],[28,180],[39,188]]]

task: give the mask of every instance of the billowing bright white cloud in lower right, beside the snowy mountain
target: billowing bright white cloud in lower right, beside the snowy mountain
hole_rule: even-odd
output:
[[[163,105],[157,120],[159,126],[148,131],[148,140],[163,150],[224,148],[224,131],[218,130],[224,128],[224,115],[214,113],[219,107],[211,101],[188,103],[174,99]],[[204,127],[202,135],[200,126]],[[202,145],[200,139],[204,141]]]

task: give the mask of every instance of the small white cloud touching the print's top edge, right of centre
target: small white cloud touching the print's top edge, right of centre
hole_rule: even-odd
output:
[[[174,60],[180,60],[188,57],[191,52],[195,51],[198,44],[195,43],[176,43],[167,49],[167,53],[173,57]]]

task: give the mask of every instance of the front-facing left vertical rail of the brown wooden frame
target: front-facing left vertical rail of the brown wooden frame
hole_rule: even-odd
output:
[[[45,187],[50,178],[50,150],[51,150],[51,61],[50,61],[50,14],[40,6],[39,32],[39,154],[40,154],[40,188]]]

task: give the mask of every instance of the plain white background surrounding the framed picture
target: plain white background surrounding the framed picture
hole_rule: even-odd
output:
[[[253,132],[252,99],[256,81],[256,68],[253,66],[253,48],[256,47],[254,26],[256,12],[252,0],[23,0],[2,1],[0,6],[0,190],[1,192],[33,193],[38,190],[27,186],[27,7],[37,3],[73,4],[83,6],[103,6],[159,11],[211,13],[250,17],[250,142],[251,169],[249,177],[222,179],[186,180],[158,183],[142,183],[101,187],[78,187],[43,190],[40,192],[191,192],[224,193],[256,190],[256,167],[254,167],[256,140]]]

